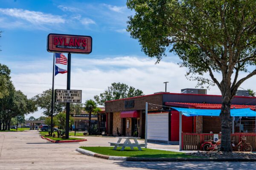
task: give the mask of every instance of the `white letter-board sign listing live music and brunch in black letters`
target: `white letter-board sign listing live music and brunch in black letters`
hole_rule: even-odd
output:
[[[82,91],[81,90],[55,90],[55,102],[63,103],[81,103]]]

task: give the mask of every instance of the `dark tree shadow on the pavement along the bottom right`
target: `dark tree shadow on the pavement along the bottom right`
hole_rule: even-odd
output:
[[[148,170],[180,169],[180,170],[255,170],[256,162],[136,162],[119,161],[115,164],[120,167],[143,168]]]

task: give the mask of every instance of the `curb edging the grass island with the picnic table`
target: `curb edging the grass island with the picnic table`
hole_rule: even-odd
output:
[[[87,156],[116,161],[256,161],[256,158],[140,158],[126,156],[107,156],[81,148],[76,148],[76,151]]]

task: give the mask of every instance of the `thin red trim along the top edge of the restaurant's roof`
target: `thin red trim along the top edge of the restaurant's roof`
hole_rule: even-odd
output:
[[[106,102],[115,102],[115,101],[119,101],[119,100],[135,99],[135,98],[139,98],[139,97],[154,96],[154,95],[160,95],[160,94],[174,94],[174,95],[176,94],[176,95],[188,95],[188,96],[218,96],[218,97],[221,97],[221,95],[214,95],[214,94],[157,93],[157,94],[147,94],[147,95],[144,95],[144,96],[129,97],[129,98],[124,98],[124,99],[109,100],[109,101],[106,101]],[[234,97],[256,99],[256,97],[252,97],[252,96],[234,96]]]

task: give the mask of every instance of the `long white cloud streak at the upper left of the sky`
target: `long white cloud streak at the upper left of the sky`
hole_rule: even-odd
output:
[[[65,23],[59,15],[45,14],[38,11],[29,11],[17,8],[0,8],[0,13],[20,18],[34,24]]]

